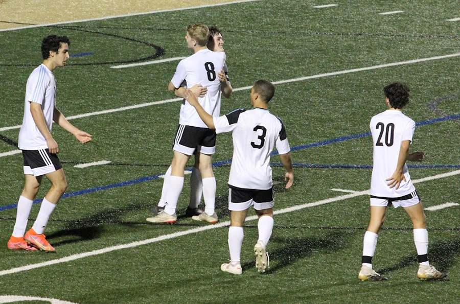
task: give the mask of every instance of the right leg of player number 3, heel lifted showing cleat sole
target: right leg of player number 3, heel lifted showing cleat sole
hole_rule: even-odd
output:
[[[273,189],[255,191],[254,208],[259,216],[257,228],[259,239],[254,246],[256,254],[256,268],[263,273],[269,267],[270,260],[266,251],[266,246],[273,231]]]

